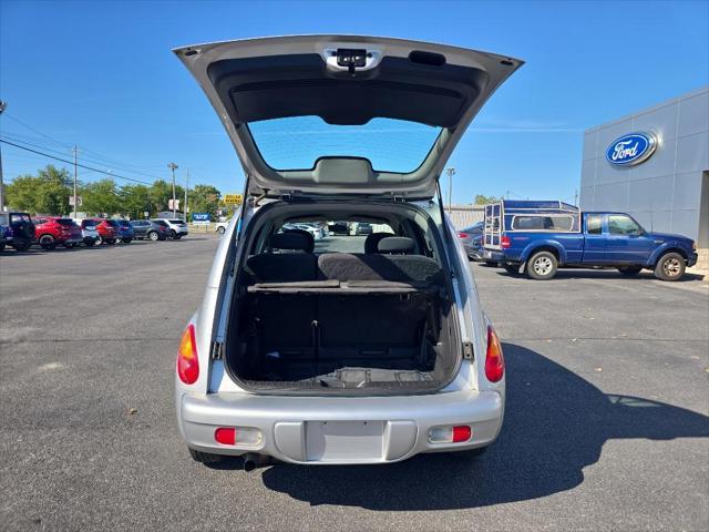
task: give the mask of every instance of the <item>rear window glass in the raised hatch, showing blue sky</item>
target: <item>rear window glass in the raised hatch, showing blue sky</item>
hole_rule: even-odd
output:
[[[280,171],[312,170],[319,157],[363,157],[374,171],[408,174],[421,166],[441,133],[441,127],[383,117],[333,125],[319,116],[287,116],[248,127],[266,164]]]

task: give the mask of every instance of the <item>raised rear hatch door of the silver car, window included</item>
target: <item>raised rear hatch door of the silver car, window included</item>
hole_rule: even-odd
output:
[[[522,64],[351,35],[232,41],[175,53],[224,123],[250,192],[278,196],[433,197],[473,116]],[[410,156],[398,160],[403,151]]]

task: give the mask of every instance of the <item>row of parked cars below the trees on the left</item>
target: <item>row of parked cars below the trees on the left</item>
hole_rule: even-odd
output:
[[[0,213],[0,252],[6,246],[24,252],[37,244],[51,250],[100,244],[130,244],[134,239],[178,241],[188,234],[182,219],[73,219],[64,216],[37,216],[28,213]]]

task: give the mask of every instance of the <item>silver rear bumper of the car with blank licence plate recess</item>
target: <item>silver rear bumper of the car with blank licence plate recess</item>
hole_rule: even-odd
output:
[[[473,390],[363,398],[222,393],[177,399],[178,424],[188,447],[216,454],[256,452],[306,464],[388,463],[421,452],[484,447],[497,437],[503,413],[501,393]],[[429,441],[429,429],[450,424],[469,424],[471,439]],[[223,446],[214,439],[217,427],[256,428],[261,440],[253,447]]]

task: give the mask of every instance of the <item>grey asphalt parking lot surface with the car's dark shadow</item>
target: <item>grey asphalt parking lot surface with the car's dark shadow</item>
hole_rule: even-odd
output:
[[[179,334],[217,238],[0,256],[2,530],[708,530],[709,287],[471,265],[507,361],[479,461],[193,462]]]

